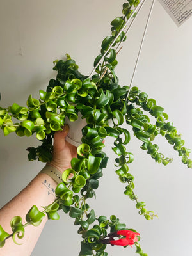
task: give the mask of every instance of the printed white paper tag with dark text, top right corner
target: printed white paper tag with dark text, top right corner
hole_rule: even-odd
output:
[[[180,26],[192,15],[192,0],[159,0],[172,20]]]

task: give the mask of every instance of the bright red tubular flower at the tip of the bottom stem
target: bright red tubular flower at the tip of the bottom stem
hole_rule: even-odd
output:
[[[118,240],[111,240],[110,241],[111,245],[120,245],[120,246],[130,245],[132,247],[132,245],[138,241],[138,237],[136,236],[140,236],[139,233],[133,232],[131,230],[118,230],[116,234],[120,236],[125,236],[125,238],[120,238]]]

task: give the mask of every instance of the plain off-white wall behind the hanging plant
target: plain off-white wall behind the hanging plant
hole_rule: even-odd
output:
[[[122,0],[1,0],[0,1],[0,106],[13,102],[26,104],[28,95],[38,97],[55,76],[52,61],[69,53],[83,74],[89,74],[99,54],[100,43],[110,33],[109,22],[120,16]],[[118,56],[116,73],[120,84],[128,85],[150,8],[147,1]],[[156,1],[134,85],[164,106],[175,126],[192,148],[191,81],[192,18],[180,28]],[[27,160],[26,148],[38,145],[35,138],[18,138],[1,132],[0,207],[35,177],[44,164]],[[90,201],[97,214],[116,214],[141,234],[141,246],[148,255],[180,256],[191,253],[192,173],[181,162],[166,140],[159,140],[161,151],[173,157],[169,166],[161,166],[140,150],[140,141],[132,138],[127,150],[134,153],[131,173],[136,177],[136,195],[148,209],[159,215],[147,221],[137,214],[134,203],[118,182],[113,160],[100,180],[97,200]],[[111,159],[111,140],[106,141]],[[72,219],[61,212],[60,221],[48,221],[33,256],[78,255],[81,237]],[[110,256],[134,255],[134,248],[109,246]]]

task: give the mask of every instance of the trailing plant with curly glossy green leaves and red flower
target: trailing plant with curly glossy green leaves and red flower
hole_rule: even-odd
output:
[[[62,129],[66,117],[74,122],[81,113],[81,118],[86,120],[82,129],[82,144],[77,147],[77,158],[73,158],[71,168],[63,172],[63,181],[56,187],[56,200],[45,206],[42,212],[33,205],[26,214],[25,223],[22,218],[15,216],[11,220],[12,234],[0,226],[1,247],[10,237],[17,243],[15,238],[24,237],[24,228],[27,225],[40,225],[45,214],[49,219],[58,220],[58,211],[62,210],[74,218],[74,225],[79,227],[77,232],[83,238],[79,256],[106,256],[107,244],[135,245],[136,253],[147,255],[138,244],[140,234],[136,230],[126,228],[114,215],[109,218],[95,215],[86,202],[95,196],[102,169],[107,166],[108,156],[103,151],[102,143],[106,136],[114,138],[112,149],[116,154],[116,174],[125,186],[124,194],[135,202],[139,214],[147,220],[156,214],[148,211],[145,202],[141,202],[134,193],[134,177],[129,172],[129,164],[134,161],[134,156],[126,149],[130,141],[129,130],[132,129],[134,136],[140,140],[140,148],[157,163],[166,165],[172,161],[159,152],[158,145],[153,143],[156,136],[161,135],[177,150],[182,162],[188,168],[192,166],[188,158],[190,150],[184,147],[184,140],[156,100],[148,98],[147,93],[137,87],[118,84],[114,71],[118,47],[114,48],[125,41],[127,20],[132,19],[133,10],[138,4],[138,0],[128,0],[123,4],[124,16],[111,22],[111,35],[104,38],[100,54],[94,61],[96,74],[82,75],[76,62],[67,55],[67,60],[54,61],[56,79],[49,81],[46,92],[40,90],[40,99],[29,95],[27,106],[13,103],[8,108],[0,108],[0,126],[5,136],[10,132],[27,137],[35,134],[41,141],[40,146],[27,149],[29,161],[51,161],[54,132]],[[150,116],[156,120],[154,124],[150,122]]]

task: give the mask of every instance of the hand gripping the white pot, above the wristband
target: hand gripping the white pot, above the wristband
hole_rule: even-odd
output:
[[[73,157],[77,157],[77,147],[71,145],[65,140],[68,129],[68,125],[65,125],[62,131],[55,132],[52,160],[47,163],[47,165],[56,167],[61,173],[63,173],[65,169],[71,168],[71,159]]]

